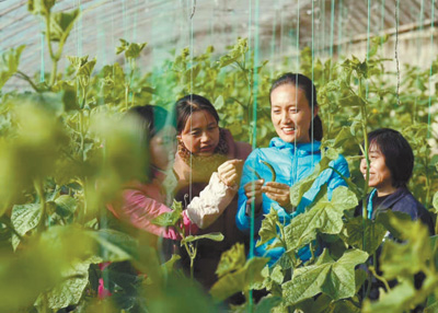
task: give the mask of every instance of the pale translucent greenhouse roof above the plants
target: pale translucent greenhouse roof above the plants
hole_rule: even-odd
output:
[[[26,45],[21,67],[37,72],[48,66],[48,53],[42,53],[46,46],[41,34],[43,22],[30,14],[27,2],[0,2],[0,50]],[[431,0],[60,0],[53,11],[74,9],[82,18],[69,36],[64,56],[96,56],[97,67],[117,60],[119,38],[147,42],[142,65],[151,66],[187,46],[193,46],[195,54],[209,45],[223,51],[239,36],[254,38],[258,34],[261,54],[273,59],[296,50],[298,45],[328,51],[366,40],[368,34],[394,34],[395,28],[406,33],[438,22],[437,13],[431,20],[434,10],[438,12],[438,1]]]

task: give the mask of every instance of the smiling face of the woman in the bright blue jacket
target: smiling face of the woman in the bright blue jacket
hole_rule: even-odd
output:
[[[316,114],[318,107],[312,112],[304,92],[290,83],[277,86],[270,94],[270,118],[278,137],[286,142],[310,142],[309,129]]]

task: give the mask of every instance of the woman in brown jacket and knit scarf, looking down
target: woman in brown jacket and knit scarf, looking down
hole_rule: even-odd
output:
[[[227,185],[227,193],[211,188],[220,201],[223,213],[201,233],[220,232],[222,242],[201,240],[197,242],[194,264],[194,277],[209,289],[217,280],[215,274],[220,256],[243,236],[235,227],[237,192],[243,161],[251,152],[251,146],[235,142],[230,131],[219,127],[219,115],[212,104],[204,96],[189,94],[176,102],[177,112],[177,153],[173,170],[177,179],[176,199],[186,207],[194,204],[196,196],[210,188],[214,182],[221,179]],[[223,167],[223,172],[215,172]],[[188,268],[188,259],[184,259]]]

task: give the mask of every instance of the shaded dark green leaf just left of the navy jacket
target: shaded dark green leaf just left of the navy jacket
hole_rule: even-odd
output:
[[[356,217],[344,224],[344,230],[339,236],[348,245],[373,254],[381,245],[385,233],[387,228],[381,223]]]

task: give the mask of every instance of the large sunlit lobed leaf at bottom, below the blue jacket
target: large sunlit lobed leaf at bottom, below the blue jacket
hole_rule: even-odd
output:
[[[355,266],[366,262],[362,251],[347,251],[337,262],[328,262],[297,268],[292,279],[283,283],[283,297],[287,305],[323,292],[333,300],[353,297],[356,292]]]

